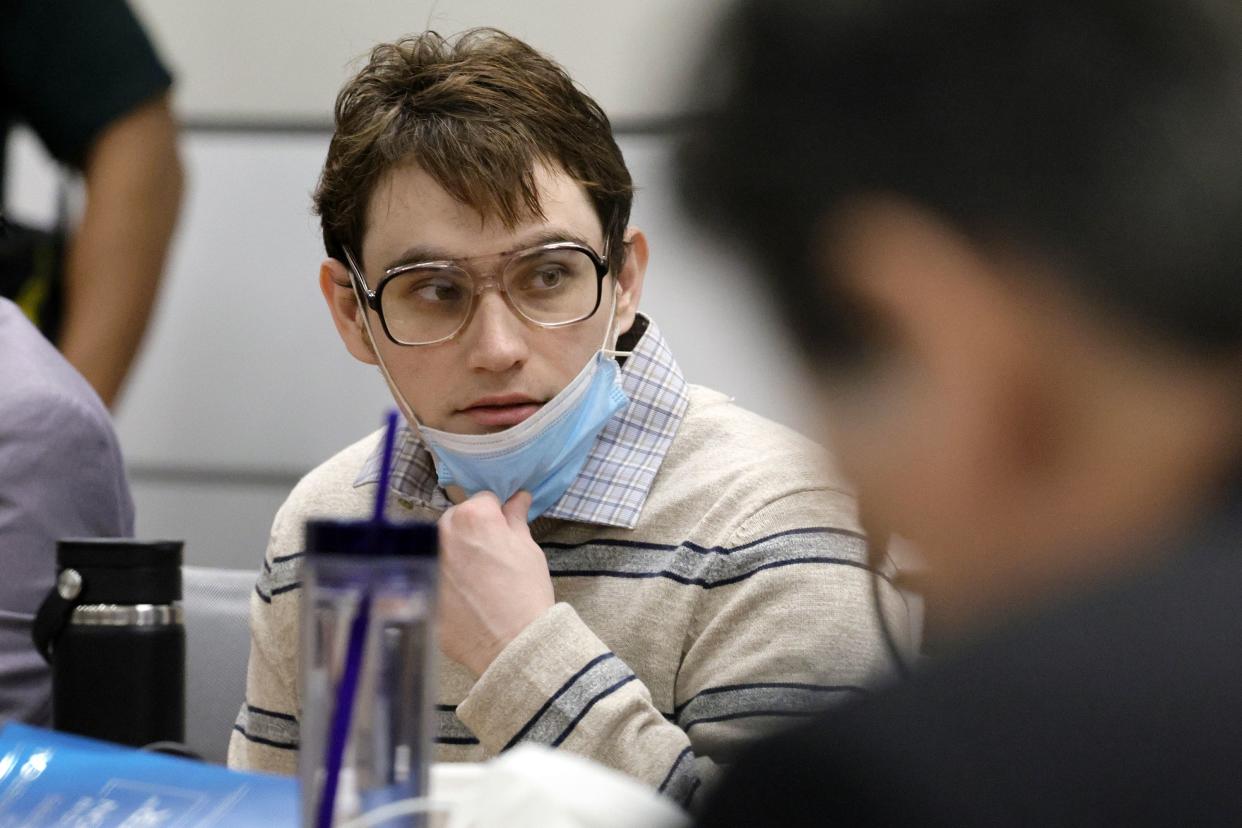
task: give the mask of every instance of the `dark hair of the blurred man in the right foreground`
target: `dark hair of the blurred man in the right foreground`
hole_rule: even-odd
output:
[[[749,0],[681,156],[802,345],[863,348],[810,254],[852,197],[897,195],[1016,241],[1108,313],[1242,345],[1242,38],[1208,0]],[[831,284],[831,274],[827,274]],[[825,353],[826,351],[826,353]]]

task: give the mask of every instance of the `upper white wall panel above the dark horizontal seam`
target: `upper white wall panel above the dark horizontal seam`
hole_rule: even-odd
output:
[[[436,29],[503,29],[551,55],[615,119],[681,112],[722,0],[130,0],[201,117],[323,119],[360,56]]]

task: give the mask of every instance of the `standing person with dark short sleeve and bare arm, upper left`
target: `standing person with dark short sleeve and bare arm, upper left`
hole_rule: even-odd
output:
[[[181,200],[171,82],[123,0],[0,4],[0,191],[12,123],[27,124],[86,189],[68,238],[10,221],[0,295],[108,406],[147,330]]]

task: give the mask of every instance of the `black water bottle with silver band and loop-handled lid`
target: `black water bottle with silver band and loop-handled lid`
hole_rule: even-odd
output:
[[[52,726],[124,745],[185,739],[181,541],[62,540],[35,619]]]

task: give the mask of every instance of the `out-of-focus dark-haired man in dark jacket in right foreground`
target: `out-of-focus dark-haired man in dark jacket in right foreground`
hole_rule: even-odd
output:
[[[1242,822],[1242,35],[1186,0],[748,2],[691,209],[754,254],[945,652],[702,826]]]

